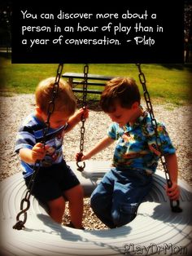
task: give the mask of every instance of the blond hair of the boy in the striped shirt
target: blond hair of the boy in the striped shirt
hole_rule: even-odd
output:
[[[53,88],[55,77],[49,77],[42,80],[36,89],[36,104],[43,113],[48,112],[49,103],[53,97]],[[55,97],[54,111],[65,111],[68,116],[72,116],[76,111],[76,98],[72,92],[71,86],[62,78],[59,81],[59,90]]]

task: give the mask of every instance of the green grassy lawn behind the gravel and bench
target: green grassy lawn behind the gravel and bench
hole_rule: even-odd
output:
[[[1,95],[34,93],[41,79],[55,77],[57,67],[58,64],[11,64],[10,59],[0,57]],[[63,73],[83,73],[83,67],[83,64],[64,64]],[[153,102],[191,104],[191,65],[142,64],[142,72]],[[89,64],[89,73],[133,77],[142,92],[135,64]],[[99,99],[98,95],[89,97]]]

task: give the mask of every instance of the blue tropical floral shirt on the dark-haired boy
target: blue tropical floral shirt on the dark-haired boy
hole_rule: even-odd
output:
[[[175,153],[175,148],[164,124],[157,122],[157,127],[161,140],[161,152],[164,155]],[[143,112],[133,126],[127,124],[120,127],[114,122],[109,127],[107,134],[111,139],[118,140],[113,157],[113,166],[120,169],[142,169],[149,173],[155,172],[160,154],[156,150],[155,130],[151,124],[149,113]]]

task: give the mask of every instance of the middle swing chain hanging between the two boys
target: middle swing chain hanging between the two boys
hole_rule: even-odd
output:
[[[84,80],[83,80],[83,101],[82,101],[82,108],[85,109],[87,107],[87,78],[89,73],[89,66],[88,64],[85,64],[84,66]],[[79,153],[79,159],[76,161],[76,166],[78,166],[77,170],[83,171],[85,169],[85,161],[83,162],[83,166],[79,165],[79,161],[81,161],[81,157],[83,155],[84,150],[84,137],[85,137],[85,117],[84,114],[81,116],[81,139],[80,139],[80,153]]]

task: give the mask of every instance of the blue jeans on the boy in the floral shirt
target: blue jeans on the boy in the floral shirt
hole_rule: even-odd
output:
[[[152,175],[145,170],[111,168],[92,193],[90,205],[108,227],[120,227],[135,218],[137,207],[151,185]]]

